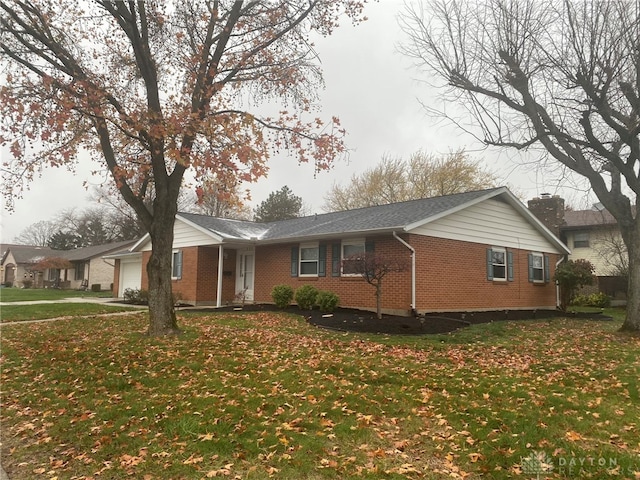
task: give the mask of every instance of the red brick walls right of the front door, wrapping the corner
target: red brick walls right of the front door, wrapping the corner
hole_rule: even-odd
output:
[[[481,245],[421,235],[402,235],[416,249],[416,307],[420,312],[555,308],[553,282],[528,281],[528,251],[514,253],[514,281],[487,280],[486,249]],[[396,256],[407,262],[407,269],[385,277],[382,307],[387,311],[409,312],[411,304],[411,268],[409,250],[392,236],[367,238],[375,242],[375,252]],[[339,240],[336,239],[335,242]],[[294,289],[310,283],[340,297],[340,305],[375,309],[375,289],[359,277],[331,276],[331,245],[327,245],[326,277],[292,277],[291,247],[297,244],[256,248],[256,302],[271,302],[271,289],[277,284]],[[550,255],[551,276],[558,255]]]

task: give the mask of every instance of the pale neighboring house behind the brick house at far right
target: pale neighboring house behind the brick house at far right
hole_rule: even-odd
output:
[[[543,194],[528,202],[529,209],[571,248],[570,260],[585,259],[595,267],[598,281],[584,293],[603,292],[626,299],[627,250],[616,219],[600,204],[590,210],[566,210],[558,196]]]

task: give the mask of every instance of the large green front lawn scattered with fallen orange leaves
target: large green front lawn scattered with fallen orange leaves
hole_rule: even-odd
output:
[[[640,338],[612,312],[433,337],[275,313],[181,312],[177,339],[145,337],[142,316],[5,326],[2,463],[12,479],[517,479],[544,452],[547,478],[637,478]]]

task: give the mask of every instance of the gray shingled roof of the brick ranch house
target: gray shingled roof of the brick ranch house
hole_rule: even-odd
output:
[[[318,238],[334,234],[356,234],[402,230],[407,225],[453,210],[478,198],[486,197],[504,187],[408,202],[378,205],[307,217],[254,223],[227,220],[206,215],[180,213],[179,216],[225,239],[263,242],[287,239]]]

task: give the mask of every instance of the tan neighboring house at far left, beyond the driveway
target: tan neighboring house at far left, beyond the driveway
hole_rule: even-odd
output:
[[[74,250],[5,245],[6,250],[2,256],[2,281],[4,285],[22,287],[27,280],[33,288],[56,286],[64,289],[91,288],[92,285],[99,284],[101,290],[109,290],[113,282],[114,261],[103,257],[134,243],[134,240],[128,240]],[[47,268],[42,271],[35,268],[39,262],[51,258],[68,260],[73,266]]]

